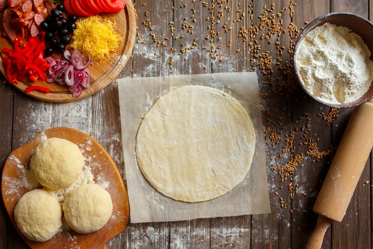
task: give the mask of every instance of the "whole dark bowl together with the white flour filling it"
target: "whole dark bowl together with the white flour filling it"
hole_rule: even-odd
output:
[[[294,49],[294,76],[324,105],[350,108],[373,97],[373,24],[329,13],[307,25]]]

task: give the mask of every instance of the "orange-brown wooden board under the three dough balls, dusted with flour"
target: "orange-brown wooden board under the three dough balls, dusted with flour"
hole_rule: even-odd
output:
[[[23,194],[31,191],[25,184],[24,170],[29,168],[29,162],[35,147],[46,138],[64,138],[79,146],[85,158],[85,165],[89,165],[94,176],[94,182],[108,183],[106,191],[110,193],[113,202],[113,212],[109,221],[98,231],[87,234],[76,233],[72,229],[58,232],[46,242],[34,242],[27,239],[19,231],[15,219],[14,208]],[[39,188],[41,186],[39,185]],[[10,220],[18,233],[32,249],[47,248],[80,248],[103,249],[106,243],[120,234],[126,227],[129,218],[129,204],[127,192],[113,159],[109,153],[91,136],[72,128],[51,128],[39,133],[25,146],[14,150],[5,162],[1,178],[1,194]]]

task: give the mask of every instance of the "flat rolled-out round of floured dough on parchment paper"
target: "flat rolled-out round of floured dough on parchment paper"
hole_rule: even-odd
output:
[[[250,117],[235,99],[214,88],[185,86],[160,97],[146,113],[136,157],[157,191],[201,202],[241,183],[255,140]]]

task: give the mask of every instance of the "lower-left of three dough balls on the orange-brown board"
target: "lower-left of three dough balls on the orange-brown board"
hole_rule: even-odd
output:
[[[62,227],[62,208],[57,199],[42,189],[25,193],[14,209],[19,230],[29,240],[46,241]]]

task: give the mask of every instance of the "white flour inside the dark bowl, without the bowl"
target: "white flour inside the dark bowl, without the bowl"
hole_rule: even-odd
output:
[[[348,28],[323,24],[310,31],[297,50],[297,69],[305,87],[323,102],[351,103],[373,80],[370,51]]]

